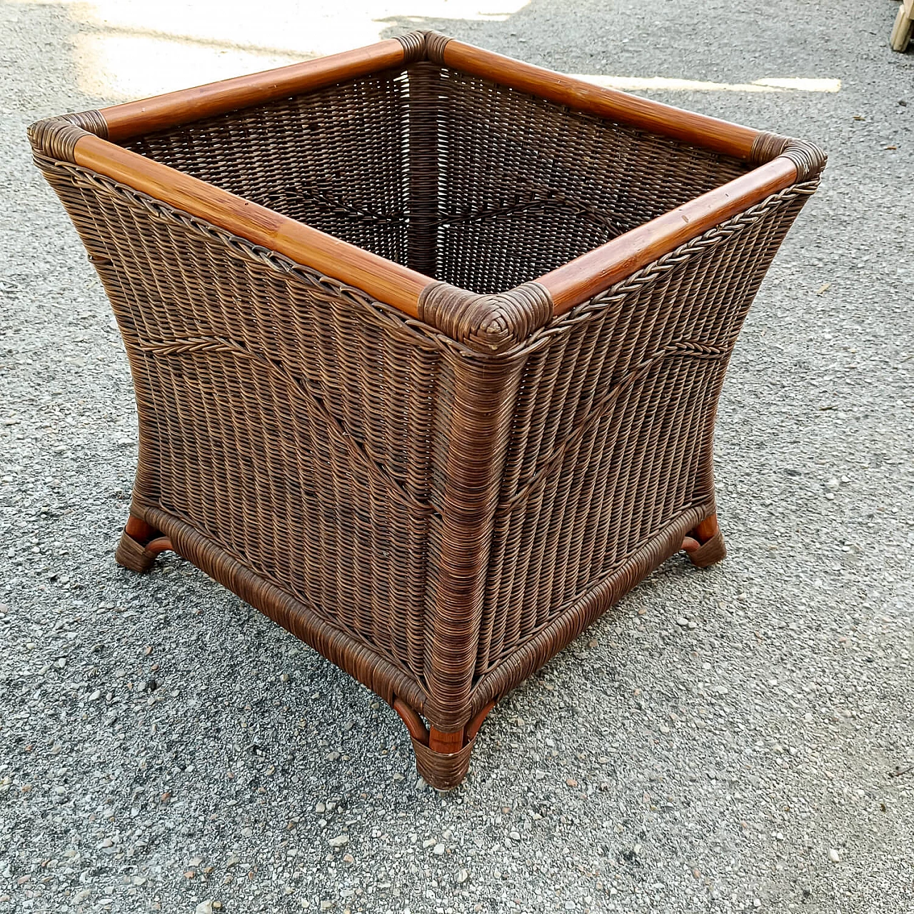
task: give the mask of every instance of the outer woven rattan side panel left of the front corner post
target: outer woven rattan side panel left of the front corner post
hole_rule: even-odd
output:
[[[38,164],[130,358],[134,505],[189,525],[424,691],[456,356],[339,282],[98,175]]]

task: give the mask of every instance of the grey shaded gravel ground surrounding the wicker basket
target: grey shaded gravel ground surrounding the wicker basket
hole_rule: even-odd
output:
[[[569,72],[843,80],[654,93],[830,154],[721,404],[730,556],[668,562],[495,709],[440,795],[393,712],[291,635],[175,557],[143,579],[114,564],[130,379],[24,136],[106,101],[75,75],[98,27],[82,5],[0,5],[0,912],[914,911],[914,53],[887,48],[896,6],[385,21]]]

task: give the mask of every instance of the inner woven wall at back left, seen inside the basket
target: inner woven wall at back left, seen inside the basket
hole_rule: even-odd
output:
[[[406,263],[408,104],[406,73],[387,71],[124,146]]]

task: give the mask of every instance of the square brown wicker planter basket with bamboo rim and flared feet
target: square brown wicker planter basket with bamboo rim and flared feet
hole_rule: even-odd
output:
[[[811,143],[435,33],[30,137],[133,371],[118,561],[311,644],[426,781],[664,559],[723,557],[717,397]]]

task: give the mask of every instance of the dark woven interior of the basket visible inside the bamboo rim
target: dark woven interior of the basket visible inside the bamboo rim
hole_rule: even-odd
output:
[[[536,279],[750,167],[430,63],[123,145],[473,292]]]

